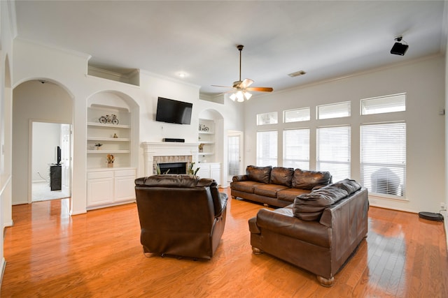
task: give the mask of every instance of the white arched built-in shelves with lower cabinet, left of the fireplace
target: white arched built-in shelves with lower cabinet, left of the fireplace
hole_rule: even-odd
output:
[[[135,200],[132,113],[123,106],[87,107],[87,209]],[[112,165],[108,155],[115,159]]]

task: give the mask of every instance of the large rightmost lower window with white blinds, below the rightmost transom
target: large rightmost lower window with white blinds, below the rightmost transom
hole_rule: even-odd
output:
[[[405,123],[360,126],[360,179],[372,193],[405,197]]]

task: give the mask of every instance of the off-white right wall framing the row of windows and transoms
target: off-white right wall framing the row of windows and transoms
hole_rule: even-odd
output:
[[[279,131],[279,165],[282,159],[284,128],[311,128],[311,169],[316,165],[316,128],[337,124],[351,125],[351,177],[360,179],[359,126],[363,123],[404,120],[407,124],[407,201],[375,198],[372,205],[405,211],[438,212],[445,199],[444,178],[444,58],[429,57],[412,64],[396,65],[331,82],[299,89],[274,92],[246,103],[246,165],[255,164],[257,130]],[[300,80],[300,78],[298,78]],[[407,93],[407,111],[360,116],[360,99]],[[316,120],[316,105],[351,101],[351,117]],[[257,127],[256,114],[311,107],[311,121]]]

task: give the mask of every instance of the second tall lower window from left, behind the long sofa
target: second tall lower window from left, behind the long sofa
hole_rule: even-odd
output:
[[[309,128],[283,131],[283,167],[309,170]]]

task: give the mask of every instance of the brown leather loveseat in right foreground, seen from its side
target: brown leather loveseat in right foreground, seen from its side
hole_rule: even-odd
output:
[[[295,198],[293,204],[260,209],[249,219],[253,253],[269,253],[317,275],[334,276],[367,237],[367,189],[345,179]]]

